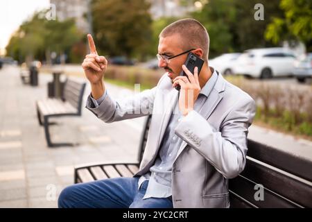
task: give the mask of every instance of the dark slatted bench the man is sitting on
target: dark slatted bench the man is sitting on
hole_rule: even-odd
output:
[[[136,162],[87,164],[74,169],[74,182],[132,176],[139,169],[150,124],[147,118]],[[312,162],[248,140],[245,170],[229,180],[233,208],[312,207]],[[263,185],[263,200],[254,198]],[[257,194],[256,194],[257,196]],[[261,198],[261,195],[258,196]]]

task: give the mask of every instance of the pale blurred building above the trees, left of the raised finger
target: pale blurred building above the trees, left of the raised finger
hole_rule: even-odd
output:
[[[63,21],[64,19],[74,18],[76,26],[87,33],[89,25],[85,15],[87,15],[88,1],[86,0],[50,0],[55,4],[56,17]]]

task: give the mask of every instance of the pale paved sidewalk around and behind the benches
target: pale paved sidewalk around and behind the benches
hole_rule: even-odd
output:
[[[79,146],[48,148],[37,122],[35,101],[46,98],[51,74],[40,74],[40,85],[22,85],[17,67],[0,70],[0,207],[57,207],[60,191],[73,184],[73,166],[89,162],[135,160],[144,118],[116,123],[99,121],[83,108],[82,117],[55,119],[55,142]],[[115,98],[132,91],[107,84]],[[87,84],[83,106],[90,89]],[[312,143],[251,126],[248,135],[265,144],[312,160]],[[53,195],[55,193],[55,195]]]

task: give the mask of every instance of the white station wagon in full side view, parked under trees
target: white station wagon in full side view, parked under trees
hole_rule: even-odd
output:
[[[294,65],[295,55],[288,49],[249,49],[236,60],[234,73],[255,78],[292,76]]]

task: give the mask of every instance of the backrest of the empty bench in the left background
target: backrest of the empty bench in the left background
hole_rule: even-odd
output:
[[[78,80],[67,78],[64,85],[63,99],[73,105],[81,114],[81,105],[83,103],[83,93],[85,92],[85,83]]]

